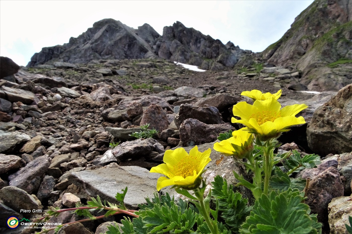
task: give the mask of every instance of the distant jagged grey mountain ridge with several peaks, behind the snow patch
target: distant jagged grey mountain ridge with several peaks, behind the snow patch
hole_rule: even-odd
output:
[[[243,53],[230,41],[224,45],[181,22],[165,26],[159,35],[149,24],[134,29],[114,19],[103,19],[69,43],[44,47],[27,67],[54,61],[88,63],[99,59],[165,58],[201,66],[203,69],[232,68]]]

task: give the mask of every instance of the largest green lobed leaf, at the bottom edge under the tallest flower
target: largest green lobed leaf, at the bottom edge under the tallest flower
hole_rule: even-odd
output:
[[[320,225],[310,217],[309,206],[302,203],[300,191],[271,191],[256,201],[250,216],[241,226],[241,233],[317,234]]]

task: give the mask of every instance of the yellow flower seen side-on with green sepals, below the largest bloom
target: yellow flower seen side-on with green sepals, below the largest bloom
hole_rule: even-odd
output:
[[[232,137],[221,142],[215,142],[214,150],[227,156],[247,158],[253,151],[252,134],[249,133],[248,128],[233,131]]]

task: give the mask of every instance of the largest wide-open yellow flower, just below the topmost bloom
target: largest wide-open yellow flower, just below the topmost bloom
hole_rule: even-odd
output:
[[[239,102],[233,106],[232,111],[234,116],[241,119],[232,117],[231,122],[244,124],[249,132],[266,141],[288,131],[290,126],[306,123],[302,116],[296,118],[295,115],[307,107],[305,104],[295,104],[281,109],[281,104],[274,97],[256,100],[253,105]]]

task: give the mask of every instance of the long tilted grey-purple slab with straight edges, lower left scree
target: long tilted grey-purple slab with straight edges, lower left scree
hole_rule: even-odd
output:
[[[8,177],[10,186],[23,189],[29,194],[36,193],[49,165],[49,159],[45,156],[34,159]]]

